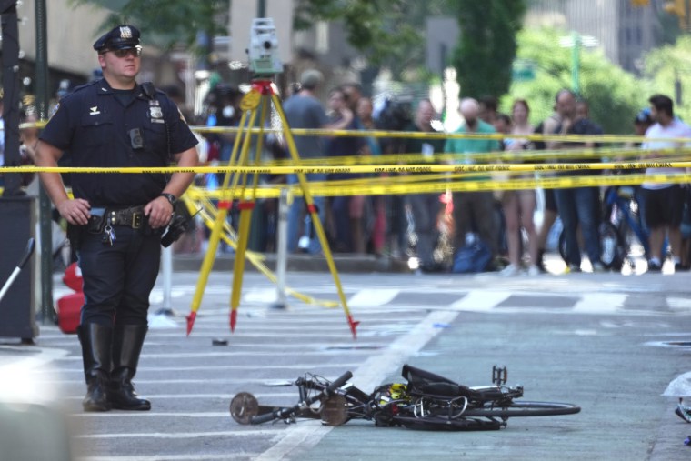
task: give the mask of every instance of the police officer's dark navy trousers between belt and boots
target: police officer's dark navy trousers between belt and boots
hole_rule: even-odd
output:
[[[149,295],[161,259],[161,236],[114,226],[113,245],[103,234],[84,233],[77,251],[84,277],[81,323],[104,326],[146,325]]]

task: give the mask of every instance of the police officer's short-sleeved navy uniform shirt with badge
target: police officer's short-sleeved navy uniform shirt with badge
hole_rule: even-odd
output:
[[[116,93],[105,79],[77,87],[60,101],[41,140],[69,151],[73,166],[85,167],[167,166],[170,155],[197,144],[165,93],[156,90],[150,99],[137,85],[126,105]],[[137,134],[141,138],[133,145]],[[92,206],[145,205],[161,194],[165,183],[163,174],[72,174],[75,198]]]

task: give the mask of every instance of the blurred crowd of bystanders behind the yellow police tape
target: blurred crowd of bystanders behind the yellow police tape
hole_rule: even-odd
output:
[[[363,94],[357,83],[345,83],[328,89],[326,103],[317,96],[325,86],[324,76],[315,69],[300,75],[299,82],[283,102],[283,109],[291,128],[322,128],[335,130],[384,129],[433,134],[429,137],[382,138],[374,136],[297,135],[295,144],[302,159],[333,158],[361,155],[420,155],[419,161],[440,162],[441,155],[453,159],[452,163],[486,163],[487,153],[511,152],[510,163],[536,162],[522,159],[521,153],[545,150],[559,153],[541,162],[576,163],[582,158],[569,158],[569,150],[599,147],[594,142],[560,142],[532,140],[530,135],[602,135],[603,130],[589,116],[588,104],[570,90],[555,95],[554,113],[538,125],[530,123],[529,102],[517,99],[509,114],[498,111],[496,98],[464,98],[459,111],[463,124],[459,134],[486,134],[481,137],[439,136],[443,133],[434,105],[429,99],[414,105],[387,101],[378,110],[372,98]],[[211,98],[211,110],[203,125],[233,126],[239,122],[239,100],[242,94],[221,86]],[[646,135],[643,147],[645,157],[652,158],[657,151],[675,148],[667,137],[691,137],[688,128],[674,115],[671,99],[665,95],[650,98],[650,107],[632,115],[632,131]],[[436,135],[434,135],[436,134]],[[496,136],[500,134],[503,136]],[[232,150],[233,135],[208,135],[209,159],[227,162]],[[660,139],[656,141],[656,139]],[[266,143],[270,158],[288,158],[289,154],[280,136]],[[630,147],[631,145],[629,145]],[[641,145],[636,145],[641,146]],[[649,149],[656,149],[650,151]],[[498,157],[498,155],[497,155]],[[638,159],[636,157],[635,159]],[[497,160],[490,160],[490,163]],[[649,170],[654,175],[660,170]],[[670,171],[665,170],[666,173]],[[548,175],[596,175],[598,171],[566,171]],[[366,178],[354,174],[309,174],[311,182],[340,181]],[[372,176],[372,175],[370,175]],[[461,177],[459,181],[477,181],[495,178],[486,175]],[[534,173],[513,177],[534,178]],[[265,180],[297,183],[295,175],[266,177]],[[393,178],[392,178],[393,179]],[[453,179],[456,180],[456,179]],[[219,181],[216,177],[213,181]],[[208,182],[208,181],[207,181]],[[217,183],[216,183],[217,184]],[[214,187],[216,184],[212,184]],[[208,186],[208,184],[207,184]],[[594,272],[606,270],[600,260],[601,242],[599,225],[603,219],[601,195],[598,186],[545,189],[540,192],[543,219],[536,225],[538,208],[536,190],[509,190],[486,192],[453,192],[452,194],[407,195],[345,195],[315,197],[315,207],[325,224],[329,245],[335,253],[373,254],[407,259],[415,256],[422,272],[444,272],[453,266],[453,253],[478,239],[489,252],[486,271],[501,271],[503,275],[538,275],[546,272],[544,255],[550,229],[559,217],[566,239],[566,266],[578,272],[582,255],[590,262]],[[651,253],[648,271],[659,271],[666,250],[676,270],[688,268],[688,257],[683,254],[681,225],[686,213],[686,188],[681,185],[644,184],[636,189],[638,210],[642,225],[648,232]],[[263,201],[259,217],[253,224],[251,245],[257,251],[275,249],[275,200]],[[650,206],[646,206],[650,204]],[[665,205],[665,206],[662,206]],[[653,211],[655,210],[655,211]],[[288,250],[293,253],[321,254],[322,248],[309,213],[301,197],[295,198],[288,214]],[[446,252],[442,248],[446,239]],[[668,242],[668,246],[663,245]],[[450,250],[449,250],[450,248]]]

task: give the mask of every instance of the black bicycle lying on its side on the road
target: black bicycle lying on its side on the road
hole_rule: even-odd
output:
[[[295,381],[295,406],[259,405],[247,392],[235,395],[230,414],[240,424],[269,421],[294,423],[297,418],[321,419],[341,426],[351,419],[374,421],[376,426],[404,426],[423,430],[497,430],[510,417],[573,415],[579,406],[558,402],[516,401],[523,386],[506,386],[506,367],[492,368],[492,385],[468,387],[444,376],[404,365],[407,383],[378,386],[371,394],[348,383],[345,372],[331,382],[308,374]]]

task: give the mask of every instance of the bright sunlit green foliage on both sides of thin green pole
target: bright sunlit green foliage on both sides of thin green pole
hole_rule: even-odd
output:
[[[515,81],[502,101],[508,112],[515,98],[526,99],[536,125],[552,113],[556,92],[571,87],[571,49],[559,45],[568,35],[556,29],[526,29],[517,35],[518,62],[532,65],[535,79]],[[647,106],[649,85],[613,65],[601,50],[585,49],[580,58],[580,95],[590,105],[590,117],[606,133],[631,133],[637,112]]]

